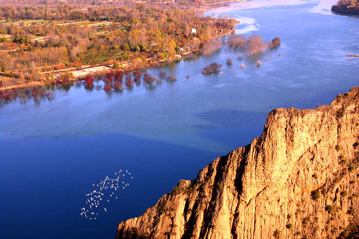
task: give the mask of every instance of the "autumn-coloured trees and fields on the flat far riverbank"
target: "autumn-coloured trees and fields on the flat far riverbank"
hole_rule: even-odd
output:
[[[110,65],[138,69],[202,53],[233,31],[233,18],[145,3],[0,8],[0,88],[55,84],[65,71]],[[63,13],[63,14],[59,14]],[[70,75],[67,75],[70,77]],[[27,83],[27,84],[25,84]]]

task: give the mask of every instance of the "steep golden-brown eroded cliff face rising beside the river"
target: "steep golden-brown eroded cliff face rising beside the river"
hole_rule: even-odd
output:
[[[117,238],[348,236],[359,222],[357,142],[359,87],[330,106],[275,109],[262,136],[120,223]]]

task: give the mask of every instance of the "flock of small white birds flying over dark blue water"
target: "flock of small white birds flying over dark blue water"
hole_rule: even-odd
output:
[[[85,206],[81,208],[80,215],[89,218],[89,220],[96,220],[99,212],[107,212],[106,207],[100,207],[100,204],[110,203],[110,200],[118,199],[115,192],[121,188],[125,189],[130,185],[124,182],[125,177],[133,179],[129,171],[122,171],[122,169],[120,169],[118,172],[115,172],[114,178],[106,176],[98,184],[92,184],[94,188],[90,193],[85,194],[87,199]]]

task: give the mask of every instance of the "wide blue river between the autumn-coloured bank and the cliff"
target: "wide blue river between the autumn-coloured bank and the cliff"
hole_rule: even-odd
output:
[[[238,18],[236,33],[247,37],[279,36],[275,50],[238,62],[243,52],[223,48],[148,69],[178,77],[153,89],[59,88],[51,102],[3,104],[0,237],[113,238],[120,221],[140,215],[178,180],[260,136],[273,108],[315,108],[358,85],[359,58],[345,57],[359,54],[358,17],[332,14],[330,2],[270,3],[236,3],[215,14]],[[212,62],[224,73],[202,75]],[[134,178],[118,200],[103,204],[107,212],[96,221],[80,216],[92,184],[119,169]]]

